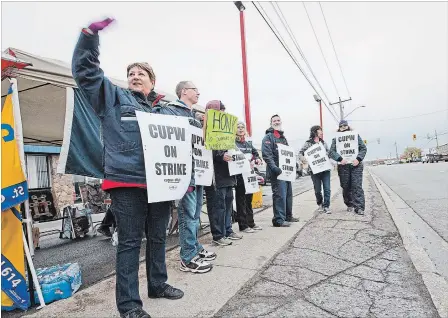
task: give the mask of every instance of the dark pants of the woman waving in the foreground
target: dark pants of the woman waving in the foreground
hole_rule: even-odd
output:
[[[118,229],[116,302],[120,314],[125,314],[143,305],[138,270],[144,232],[148,293],[166,288],[165,243],[171,202],[148,203],[146,189],[141,188],[116,188],[110,194]]]

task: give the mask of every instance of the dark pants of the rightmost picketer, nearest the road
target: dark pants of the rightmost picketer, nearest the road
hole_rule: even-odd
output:
[[[356,167],[352,165],[338,166],[339,181],[341,183],[344,203],[348,207],[356,210],[365,210],[366,203],[364,190],[362,189],[362,173],[364,166],[362,163]]]

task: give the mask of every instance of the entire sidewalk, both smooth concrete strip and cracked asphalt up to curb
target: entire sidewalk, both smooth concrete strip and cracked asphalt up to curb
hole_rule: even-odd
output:
[[[153,317],[438,317],[370,176],[364,189],[364,217],[345,212],[333,172],[331,215],[315,218],[311,190],[294,198],[301,222],[290,228],[272,227],[269,208],[255,216],[263,231],[232,246],[210,246],[211,236],[202,237],[218,254],[207,274],[180,272],[179,249],[168,252],[168,282],[185,291],[183,299],[145,297],[142,264],[144,308]],[[115,277],[28,317],[61,316],[118,317]]]

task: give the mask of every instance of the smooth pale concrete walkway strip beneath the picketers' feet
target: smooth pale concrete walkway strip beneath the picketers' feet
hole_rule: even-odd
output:
[[[333,173],[332,189],[339,188]],[[287,244],[305,223],[313,218],[316,202],[314,192],[306,191],[293,201],[294,215],[301,222],[290,228],[272,226],[272,208],[255,215],[262,231],[245,234],[232,246],[211,246],[211,235],[200,238],[205,248],[215,251],[218,258],[214,268],[206,274],[179,271],[179,248],[167,252],[168,283],[181,288],[184,298],[176,301],[149,299],[146,296],[146,273],[144,263],[140,266],[140,295],[144,308],[152,317],[211,317],[231,299],[281,248]],[[234,224],[234,230],[238,226]],[[90,286],[73,297],[49,304],[26,317],[118,317],[115,305],[115,276]]]

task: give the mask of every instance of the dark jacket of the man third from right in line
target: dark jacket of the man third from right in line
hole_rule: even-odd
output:
[[[274,128],[269,128],[266,130],[266,136],[264,136],[261,144],[261,153],[263,155],[263,160],[266,162],[266,175],[269,178],[275,178],[282,170],[278,167],[278,146],[277,144],[282,144],[288,146],[288,141],[286,140],[283,131],[279,131],[280,138],[275,137]]]

